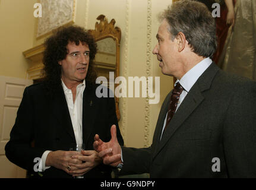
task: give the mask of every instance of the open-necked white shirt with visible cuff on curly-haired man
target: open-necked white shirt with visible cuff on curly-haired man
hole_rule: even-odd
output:
[[[75,102],[73,101],[72,91],[62,82],[62,88],[64,90],[65,98],[67,100],[69,115],[71,118],[72,126],[75,134],[75,141],[77,144],[83,143],[83,92],[86,88],[86,80],[83,83],[77,85],[77,94],[75,96]],[[49,167],[45,167],[46,157],[50,153],[50,150],[46,150],[39,162],[39,172],[43,172]]]

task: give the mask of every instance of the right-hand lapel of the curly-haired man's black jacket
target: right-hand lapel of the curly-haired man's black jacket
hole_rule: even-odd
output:
[[[83,96],[83,143],[86,144],[86,147],[93,132],[97,106],[99,106],[99,103],[95,90],[89,84],[86,84]]]

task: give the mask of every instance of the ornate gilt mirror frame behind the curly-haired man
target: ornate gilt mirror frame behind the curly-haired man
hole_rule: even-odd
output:
[[[105,15],[101,14],[97,17],[97,20],[100,23],[95,23],[95,29],[89,30],[89,32],[93,35],[96,42],[99,40],[103,40],[106,38],[112,38],[116,44],[116,62],[115,62],[115,78],[119,77],[119,47],[120,47],[120,40],[121,40],[121,29],[119,27],[115,27],[115,19],[112,19],[110,23],[108,23],[108,19]],[[115,84],[116,87],[116,84]],[[115,93],[113,91],[113,93]],[[115,96],[115,103],[116,103],[116,116],[118,121],[120,119],[120,112],[119,112],[119,98]]]

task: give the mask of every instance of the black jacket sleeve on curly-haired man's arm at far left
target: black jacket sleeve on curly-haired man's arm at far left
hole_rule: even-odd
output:
[[[5,145],[5,154],[7,158],[17,166],[23,169],[33,170],[45,150],[31,147],[34,138],[34,109],[29,93],[29,87],[26,87],[18,108],[17,118],[12,127],[10,141]]]

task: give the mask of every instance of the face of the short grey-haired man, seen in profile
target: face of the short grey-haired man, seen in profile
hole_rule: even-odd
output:
[[[166,20],[163,20],[159,26],[156,38],[158,40],[157,45],[153,49],[153,54],[157,55],[157,59],[160,61],[159,66],[162,68],[162,73],[170,76],[177,76],[179,72],[178,64],[178,46],[176,39],[171,39],[171,34],[167,30],[169,25]]]

